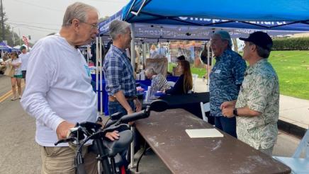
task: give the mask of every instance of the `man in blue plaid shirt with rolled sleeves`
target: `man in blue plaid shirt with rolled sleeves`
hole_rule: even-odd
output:
[[[113,45],[108,50],[104,62],[103,72],[108,93],[108,112],[112,115],[123,112],[123,115],[141,110],[141,103],[136,97],[136,86],[133,68],[125,49],[130,47],[130,24],[125,21],[113,21],[110,26],[110,36]]]

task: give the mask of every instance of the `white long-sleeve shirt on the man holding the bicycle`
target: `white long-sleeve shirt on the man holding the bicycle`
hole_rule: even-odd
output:
[[[35,141],[41,146],[55,146],[56,129],[64,120],[73,124],[96,121],[89,68],[81,52],[59,34],[35,44],[26,81],[21,105],[36,119]]]

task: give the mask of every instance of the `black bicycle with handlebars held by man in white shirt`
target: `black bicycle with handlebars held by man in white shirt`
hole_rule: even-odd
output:
[[[154,103],[154,104],[153,104]],[[84,169],[84,159],[82,157],[82,148],[84,144],[90,139],[93,139],[93,144],[96,146],[96,154],[98,154],[97,160],[100,161],[103,173],[104,174],[117,174],[116,171],[116,163],[115,163],[115,156],[123,151],[124,149],[128,149],[130,143],[133,141],[133,133],[130,131],[128,127],[128,122],[133,122],[135,120],[143,119],[145,117],[150,116],[150,110],[155,110],[157,112],[162,112],[167,109],[167,103],[162,100],[155,100],[154,102],[147,105],[145,110],[140,112],[135,112],[130,115],[124,115],[120,117],[118,120],[111,120],[106,124],[106,129],[101,129],[101,124],[91,123],[91,122],[83,122],[81,124],[76,125],[76,127],[71,129],[71,133],[73,137],[69,137],[67,139],[62,139],[55,143],[55,146],[60,143],[64,142],[73,142],[76,141],[76,158],[75,158],[75,167],[76,173],[78,174],[86,174],[86,170]],[[122,124],[125,123],[125,124]],[[120,141],[120,139],[113,141],[111,143],[111,149],[108,149],[108,141],[104,138],[106,132],[113,132],[114,130],[118,130],[119,134],[122,132],[128,131],[130,132],[129,139],[124,139]],[[128,133],[127,132],[127,133]],[[79,137],[79,134],[81,136]],[[86,138],[84,138],[86,135]],[[127,134],[128,135],[128,134]],[[124,136],[120,136],[124,137]],[[104,144],[105,142],[105,144]],[[111,141],[109,141],[111,142]],[[118,143],[118,144],[117,144]],[[118,145],[118,146],[117,146]],[[92,145],[94,147],[94,145]],[[118,150],[114,150],[113,148],[116,147]],[[111,159],[111,163],[108,161],[108,158]]]

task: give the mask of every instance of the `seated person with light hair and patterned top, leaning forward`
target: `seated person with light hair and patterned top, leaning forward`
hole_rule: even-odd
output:
[[[153,91],[164,91],[171,88],[167,82],[167,79],[165,79],[162,74],[156,74],[152,67],[146,69],[145,75],[147,76],[147,79],[152,80],[151,88]]]

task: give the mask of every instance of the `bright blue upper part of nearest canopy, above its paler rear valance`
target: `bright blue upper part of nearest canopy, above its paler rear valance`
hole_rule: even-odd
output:
[[[123,21],[308,31],[308,13],[305,0],[132,0],[123,8]]]

